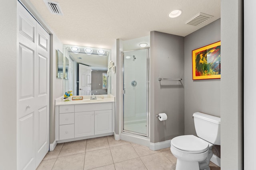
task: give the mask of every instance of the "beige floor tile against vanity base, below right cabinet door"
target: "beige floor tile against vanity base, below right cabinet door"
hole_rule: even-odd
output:
[[[107,137],[87,139],[86,152],[105,148],[109,148]]]

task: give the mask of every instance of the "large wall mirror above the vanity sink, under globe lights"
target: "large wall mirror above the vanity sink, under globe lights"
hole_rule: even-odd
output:
[[[73,95],[77,96],[111,94],[110,49],[63,45],[63,53],[70,64],[65,66],[68,67],[65,70],[68,72],[68,74],[65,74],[68,77],[68,80],[64,81],[65,90],[73,89]],[[68,63],[68,61],[65,61],[65,63]],[[72,63],[70,63],[71,61]],[[85,70],[82,70],[84,66]],[[82,73],[79,74],[79,72],[86,72],[86,69],[90,71],[81,76]]]

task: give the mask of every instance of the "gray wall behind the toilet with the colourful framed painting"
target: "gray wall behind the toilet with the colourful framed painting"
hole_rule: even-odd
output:
[[[196,135],[196,111],[220,117],[220,79],[192,79],[192,50],[220,41],[220,19],[187,35],[185,49],[185,134]],[[222,55],[223,56],[223,55]]]

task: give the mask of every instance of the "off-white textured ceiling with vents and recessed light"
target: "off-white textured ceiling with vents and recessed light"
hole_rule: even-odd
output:
[[[63,44],[111,49],[115,39],[129,40],[160,31],[186,36],[220,18],[220,0],[54,0],[63,16],[49,12],[44,0],[30,0]],[[169,18],[181,9],[178,18]],[[186,25],[199,12],[214,16]]]

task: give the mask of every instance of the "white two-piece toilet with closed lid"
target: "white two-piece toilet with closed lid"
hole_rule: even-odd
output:
[[[198,137],[183,135],[171,140],[176,170],[210,170],[212,146],[220,145],[220,117],[196,112],[193,118]]]

